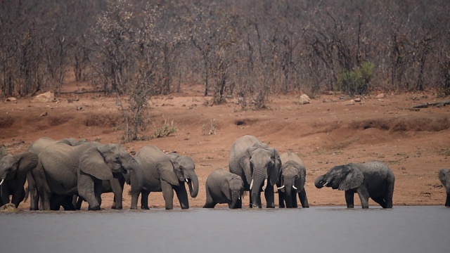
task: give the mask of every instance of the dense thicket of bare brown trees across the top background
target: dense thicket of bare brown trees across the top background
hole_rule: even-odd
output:
[[[1,96],[58,92],[73,73],[130,95],[201,83],[243,108],[273,92],[448,95],[449,13],[448,0],[4,0]]]

